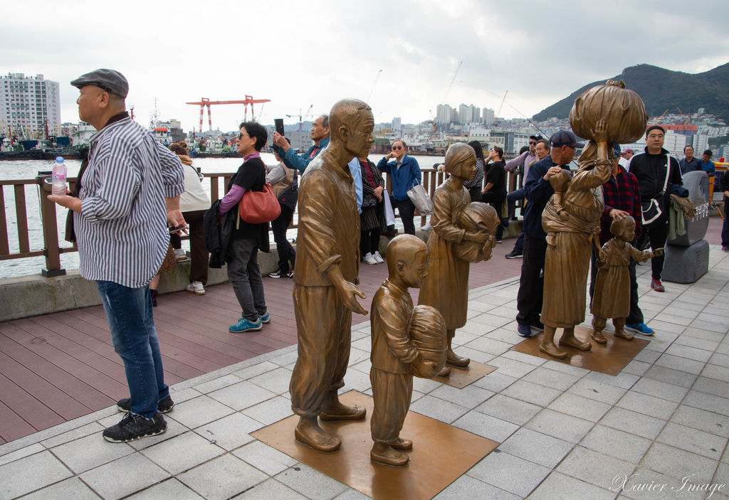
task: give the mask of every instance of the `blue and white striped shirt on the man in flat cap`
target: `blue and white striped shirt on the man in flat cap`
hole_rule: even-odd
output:
[[[130,118],[90,140],[81,212],[74,213],[85,279],[130,288],[157,274],[169,244],[165,197],[184,191],[182,163]]]

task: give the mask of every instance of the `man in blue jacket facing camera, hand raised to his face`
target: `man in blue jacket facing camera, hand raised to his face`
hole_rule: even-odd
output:
[[[406,234],[415,234],[415,205],[408,197],[408,191],[413,186],[420,184],[422,175],[418,161],[406,153],[408,146],[402,140],[396,140],[392,143],[392,151],[383,156],[383,159],[377,164],[378,169],[387,174],[392,179],[392,193],[390,201],[400,213],[402,220],[402,228]],[[394,158],[393,161],[389,161]]]

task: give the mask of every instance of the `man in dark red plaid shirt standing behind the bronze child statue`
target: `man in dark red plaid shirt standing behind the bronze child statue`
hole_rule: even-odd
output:
[[[610,224],[612,221],[620,221],[621,219],[631,215],[636,221],[636,239],[633,245],[636,245],[637,239],[642,234],[643,226],[640,189],[638,187],[638,179],[636,176],[625,170],[620,165],[620,145],[615,144],[615,151],[612,155],[612,177],[602,186],[602,196],[605,201],[605,210],[600,219],[600,245],[604,245],[611,239]],[[631,277],[631,312],[625,320],[625,330],[631,330],[642,335],[653,335],[653,330],[648,328],[643,320],[643,311],[638,306],[638,282],[636,281],[636,261],[631,260],[628,266],[628,272]],[[596,255],[593,252],[592,266],[590,266],[590,298],[595,290],[595,277],[597,275]]]

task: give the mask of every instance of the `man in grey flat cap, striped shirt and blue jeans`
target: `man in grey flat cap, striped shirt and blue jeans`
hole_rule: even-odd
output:
[[[117,408],[128,413],[104,430],[107,441],[124,443],[165,432],[160,412],[174,406],[163,376],[149,279],[165,257],[168,224],[185,226],[179,211],[182,164],[130,119],[124,103],[129,86],[118,71],[91,71],[71,85],[81,92],[79,118],[98,132],[79,176],[79,197],[48,198],[74,211],[81,276],[97,282],[114,350],[124,362],[130,398]]]

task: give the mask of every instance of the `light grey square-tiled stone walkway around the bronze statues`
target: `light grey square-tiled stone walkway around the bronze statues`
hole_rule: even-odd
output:
[[[410,410],[502,444],[436,498],[728,500],[729,254],[709,265],[666,293],[639,266],[657,333],[618,376],[510,351],[518,279],[472,290],[457,350],[498,369],[464,389],[416,378]],[[353,328],[343,391],[370,393],[369,328]],[[176,384],[158,437],[106,443],[106,408],[1,445],[0,499],[366,498],[248,434],[292,414],[295,349]]]

